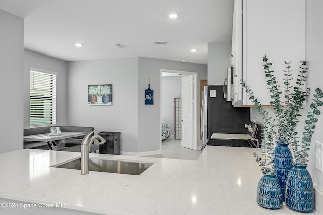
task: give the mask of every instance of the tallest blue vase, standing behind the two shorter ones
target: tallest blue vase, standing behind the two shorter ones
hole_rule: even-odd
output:
[[[288,148],[289,143],[276,143],[274,149],[274,167],[277,179],[282,188],[283,201],[285,200],[285,184],[288,172],[293,167],[292,153]]]

